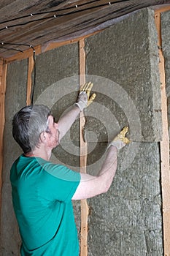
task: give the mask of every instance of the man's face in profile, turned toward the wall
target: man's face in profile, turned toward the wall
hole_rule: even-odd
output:
[[[48,121],[48,128],[50,129],[50,132],[47,133],[47,146],[53,149],[59,144],[58,124],[55,123],[53,116],[49,116]]]

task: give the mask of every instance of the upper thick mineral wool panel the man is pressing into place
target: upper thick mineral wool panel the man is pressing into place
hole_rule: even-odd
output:
[[[85,39],[86,75],[94,83],[96,115],[106,107],[112,115],[103,110],[104,115],[114,120],[116,132],[128,125],[135,141],[160,141],[162,137],[157,42],[150,9],[135,12]],[[100,141],[105,141],[103,136]]]

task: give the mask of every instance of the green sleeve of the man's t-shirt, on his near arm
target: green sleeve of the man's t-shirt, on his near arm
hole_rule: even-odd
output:
[[[80,173],[64,165],[47,163],[42,165],[39,193],[46,200],[72,200],[72,196],[80,183]],[[40,195],[39,195],[40,196]]]

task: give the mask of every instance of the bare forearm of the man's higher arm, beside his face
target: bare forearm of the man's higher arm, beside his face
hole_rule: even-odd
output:
[[[61,118],[58,120],[58,130],[60,132],[59,139],[63,138],[66,132],[69,131],[70,127],[76,120],[77,116],[80,113],[80,108],[77,106],[72,106],[67,113],[64,113]]]

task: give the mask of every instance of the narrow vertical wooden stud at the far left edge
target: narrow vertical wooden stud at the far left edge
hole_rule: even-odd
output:
[[[3,167],[3,137],[4,137],[4,99],[6,91],[7,64],[0,60],[0,210],[1,210],[1,188],[2,188],[2,167]]]

